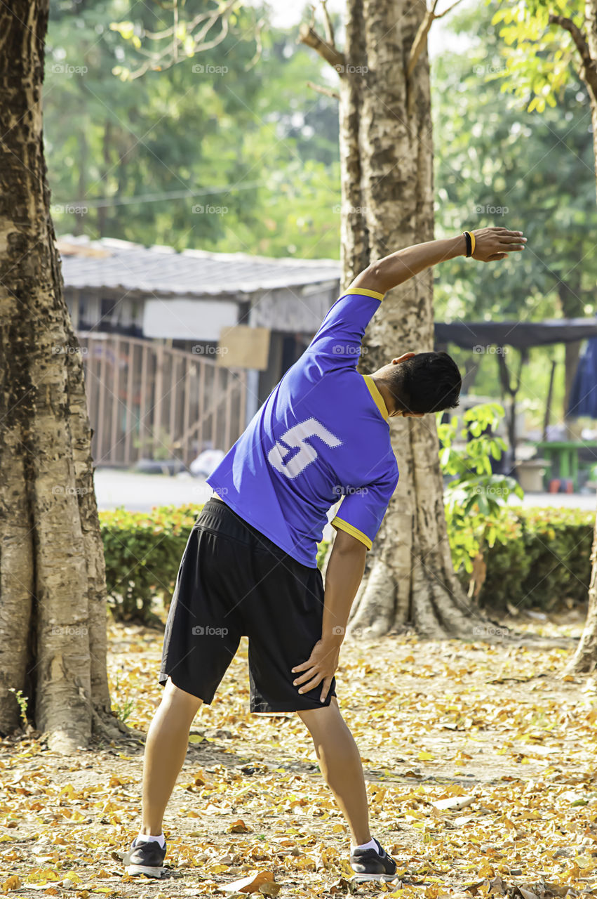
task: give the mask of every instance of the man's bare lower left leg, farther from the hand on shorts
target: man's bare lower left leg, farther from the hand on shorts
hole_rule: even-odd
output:
[[[143,762],[143,814],[140,833],[160,836],[163,813],[189,748],[189,730],[202,700],[175,687],[168,678],[162,702],[149,726]]]

